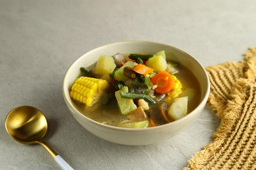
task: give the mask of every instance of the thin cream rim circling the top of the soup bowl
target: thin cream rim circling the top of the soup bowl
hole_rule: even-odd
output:
[[[176,49],[178,51],[181,51],[187,55],[189,55],[195,62],[198,63],[198,65],[201,67],[202,71],[204,72],[204,77],[207,79],[207,91],[202,99],[202,101],[200,102],[200,104],[198,104],[198,106],[192,110],[189,114],[187,114],[186,116],[182,117],[181,119],[178,119],[178,120],[175,120],[175,121],[172,121],[168,124],[163,124],[163,125],[160,125],[160,126],[155,126],[155,127],[150,127],[150,128],[122,128],[122,127],[117,127],[117,126],[111,126],[111,125],[106,125],[106,124],[102,124],[98,121],[94,121],[92,119],[90,119],[89,117],[86,117],[85,115],[83,115],[82,113],[80,113],[74,106],[73,104],[70,102],[70,101],[67,99],[69,97],[69,93],[67,94],[65,92],[65,88],[67,88],[67,85],[64,84],[67,80],[67,73],[70,71],[70,69],[72,68],[73,65],[75,65],[77,62],[79,62],[79,60],[81,60],[85,55],[89,55],[90,53],[93,53],[94,51],[98,51],[102,48],[106,48],[108,46],[113,46],[113,45],[117,45],[117,44],[127,44],[127,43],[150,43],[150,44],[159,44],[159,45],[164,45],[164,46],[169,46],[173,49]],[[108,43],[108,44],[105,44],[105,45],[101,45],[101,46],[98,46],[94,49],[91,49],[90,51],[84,53],[83,55],[81,55],[80,57],[78,57],[74,62],[72,62],[72,64],[68,67],[65,75],[64,75],[64,78],[63,78],[63,84],[62,84],[62,93],[63,93],[63,97],[65,99],[65,102],[68,106],[69,109],[73,110],[74,113],[80,117],[82,117],[83,119],[85,119],[86,121],[89,121],[90,123],[94,124],[94,125],[97,125],[97,126],[100,126],[102,128],[107,128],[107,129],[110,129],[110,130],[116,130],[116,131],[126,131],[126,132],[141,132],[141,131],[150,131],[150,130],[156,130],[156,129],[162,129],[162,128],[166,128],[168,126],[172,126],[174,124],[179,124],[180,122],[184,121],[185,119],[188,119],[189,117],[191,117],[192,115],[194,115],[201,107],[204,107],[204,105],[206,104],[207,102],[207,99],[208,99],[208,96],[209,96],[209,93],[210,93],[210,80],[209,80],[209,76],[207,74],[207,71],[205,70],[204,66],[202,66],[202,64],[191,54],[181,50],[181,49],[178,49],[177,47],[175,46],[171,46],[171,45],[168,45],[168,44],[163,44],[163,43],[159,43],[159,42],[153,42],[153,41],[144,41],[144,40],[127,40],[127,41],[119,41],[119,42],[112,42],[112,43]]]

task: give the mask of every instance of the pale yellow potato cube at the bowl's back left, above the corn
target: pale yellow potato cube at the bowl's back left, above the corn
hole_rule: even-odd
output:
[[[115,61],[113,57],[108,55],[101,55],[96,64],[95,72],[98,74],[110,74],[116,68]]]

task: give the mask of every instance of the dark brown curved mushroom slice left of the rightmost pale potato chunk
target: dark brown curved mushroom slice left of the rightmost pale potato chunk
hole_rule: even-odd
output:
[[[155,124],[161,125],[161,124],[167,124],[170,121],[167,118],[167,104],[162,103],[162,104],[157,104],[153,106],[150,109],[150,117],[153,120]]]

